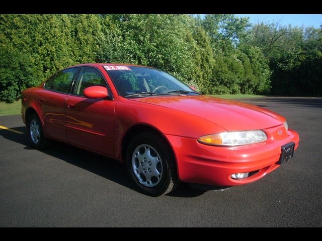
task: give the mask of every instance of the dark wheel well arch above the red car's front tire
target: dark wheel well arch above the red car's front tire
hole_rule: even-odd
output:
[[[127,146],[129,145],[131,139],[133,137],[135,137],[137,134],[142,133],[142,132],[151,132],[151,133],[153,133],[155,135],[158,135],[158,136],[162,137],[163,139],[165,139],[165,137],[159,131],[157,131],[156,129],[154,129],[154,128],[150,127],[150,126],[147,126],[147,125],[133,126],[125,133],[125,135],[124,135],[124,137],[122,139],[121,155],[122,155],[123,160],[125,160],[126,149],[127,149]],[[169,145],[170,149],[172,150],[171,145],[169,144],[168,140],[165,139],[165,141],[167,142],[167,144]],[[174,155],[173,151],[172,151],[172,155]],[[174,155],[174,157],[175,157],[175,155]]]

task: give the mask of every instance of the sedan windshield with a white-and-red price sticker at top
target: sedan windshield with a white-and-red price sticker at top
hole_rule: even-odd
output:
[[[198,94],[182,81],[158,69],[136,66],[104,68],[123,97],[135,96],[138,93],[175,94],[175,91]]]

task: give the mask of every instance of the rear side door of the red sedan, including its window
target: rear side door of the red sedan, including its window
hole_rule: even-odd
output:
[[[78,67],[64,69],[49,78],[44,89],[37,92],[37,108],[44,122],[44,134],[67,141],[65,132],[65,101]]]

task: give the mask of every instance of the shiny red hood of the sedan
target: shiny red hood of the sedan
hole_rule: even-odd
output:
[[[151,96],[130,100],[184,111],[227,131],[263,130],[285,122],[284,117],[268,109],[207,95]]]

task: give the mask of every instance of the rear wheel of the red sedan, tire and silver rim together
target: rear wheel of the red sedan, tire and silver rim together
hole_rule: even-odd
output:
[[[41,121],[36,113],[28,117],[27,129],[27,135],[32,147],[35,149],[44,149],[48,146],[49,140],[44,137]]]

